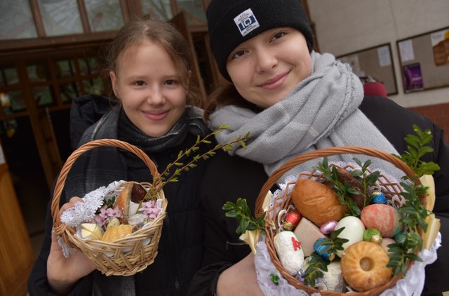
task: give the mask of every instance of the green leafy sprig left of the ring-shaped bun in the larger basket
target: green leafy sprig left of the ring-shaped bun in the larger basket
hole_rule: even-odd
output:
[[[316,245],[323,245],[322,253],[337,254],[337,250],[344,250],[343,244],[346,243],[346,238],[339,238],[338,235],[343,231],[344,227],[332,231],[328,238],[323,238],[317,242]],[[330,260],[321,257],[316,251],[309,256],[309,264],[306,271],[302,274],[305,285],[315,286],[315,281],[324,276],[323,271],[328,271]]]

